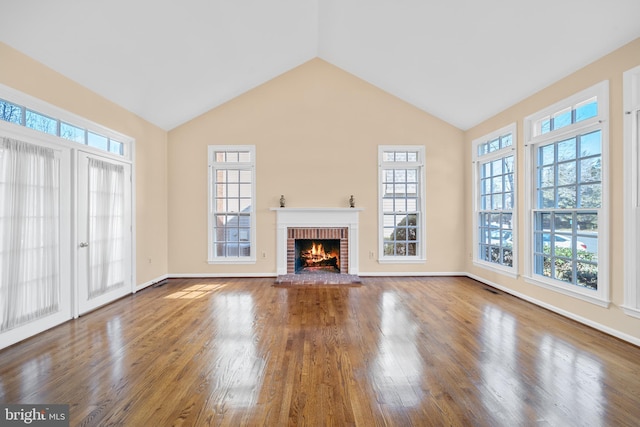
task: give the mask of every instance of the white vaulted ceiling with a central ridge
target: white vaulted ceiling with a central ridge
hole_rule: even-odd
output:
[[[0,41],[166,130],[315,57],[464,130],[640,37],[639,17],[639,0],[0,0]]]

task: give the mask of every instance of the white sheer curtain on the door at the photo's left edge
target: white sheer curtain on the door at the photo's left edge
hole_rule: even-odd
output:
[[[55,152],[0,137],[0,332],[60,305],[60,181]]]

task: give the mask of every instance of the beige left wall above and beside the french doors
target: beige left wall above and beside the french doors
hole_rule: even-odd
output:
[[[0,64],[0,83],[135,138],[136,284],[166,275],[167,133],[3,43]]]

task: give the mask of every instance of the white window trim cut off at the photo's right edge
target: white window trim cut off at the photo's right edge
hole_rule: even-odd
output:
[[[623,74],[624,109],[624,312],[640,318],[640,66]]]

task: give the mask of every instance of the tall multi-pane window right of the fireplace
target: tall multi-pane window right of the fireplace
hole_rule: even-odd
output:
[[[424,147],[380,146],[380,261],[422,261]]]

